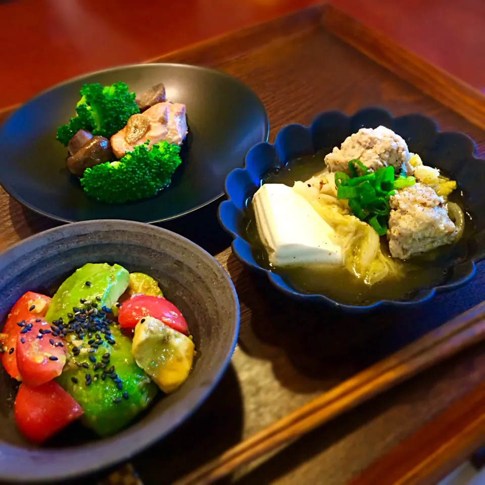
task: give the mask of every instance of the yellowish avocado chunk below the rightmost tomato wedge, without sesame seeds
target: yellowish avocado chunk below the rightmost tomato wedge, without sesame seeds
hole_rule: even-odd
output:
[[[131,352],[164,393],[175,391],[188,377],[194,350],[189,337],[156,318],[144,317],[135,326]]]

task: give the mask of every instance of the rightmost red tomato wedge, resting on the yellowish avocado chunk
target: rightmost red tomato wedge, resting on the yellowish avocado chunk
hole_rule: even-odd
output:
[[[135,295],[121,305],[118,321],[120,327],[134,327],[141,318],[153,317],[174,330],[189,334],[187,322],[178,308],[163,297]]]

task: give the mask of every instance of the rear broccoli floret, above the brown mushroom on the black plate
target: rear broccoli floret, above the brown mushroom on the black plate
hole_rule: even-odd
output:
[[[102,86],[97,82],[84,84],[80,94],[77,116],[57,130],[57,139],[64,146],[80,129],[110,138],[126,125],[131,115],[140,112],[135,93],[129,92],[124,82],[115,82],[111,86]]]

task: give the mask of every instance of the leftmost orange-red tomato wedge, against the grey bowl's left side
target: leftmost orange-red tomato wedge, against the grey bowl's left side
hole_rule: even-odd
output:
[[[10,311],[7,322],[2,330],[3,333],[7,335],[3,341],[4,353],[2,354],[2,364],[4,365],[5,370],[14,379],[22,380],[17,367],[17,356],[15,354],[17,336],[20,330],[22,330],[22,327],[18,326],[17,323],[20,323],[23,320],[30,320],[31,318],[44,317],[50,304],[51,298],[38,293],[27,292],[20,297]],[[30,310],[30,308],[32,308],[32,310]]]

